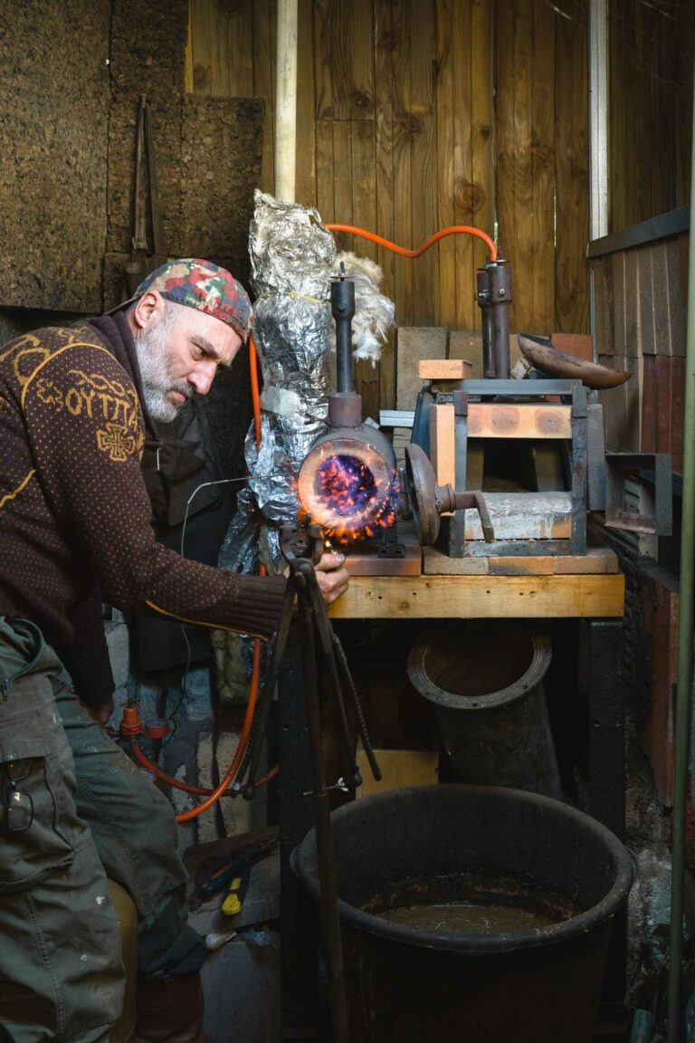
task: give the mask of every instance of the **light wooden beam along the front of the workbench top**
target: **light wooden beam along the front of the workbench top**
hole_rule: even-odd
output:
[[[619,617],[621,573],[553,576],[355,576],[337,620]]]

